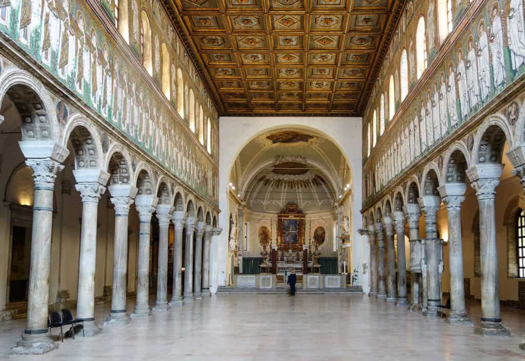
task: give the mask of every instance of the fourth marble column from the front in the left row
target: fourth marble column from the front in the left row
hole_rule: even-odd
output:
[[[159,198],[140,194],[135,197],[135,208],[139,213],[139,260],[137,264],[137,302],[131,318],[151,315],[150,296],[150,239],[151,216]]]

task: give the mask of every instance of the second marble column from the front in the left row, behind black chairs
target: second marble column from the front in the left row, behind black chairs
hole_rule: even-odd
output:
[[[83,320],[83,336],[95,336],[102,330],[95,324],[95,269],[97,259],[97,217],[100,196],[106,192],[109,173],[100,169],[73,171],[82,197],[80,259],[78,267],[77,320]]]

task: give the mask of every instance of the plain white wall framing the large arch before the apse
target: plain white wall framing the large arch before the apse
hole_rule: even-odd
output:
[[[270,116],[246,117],[223,116],[219,120],[219,226],[223,233],[214,237],[211,249],[211,281],[212,292],[217,286],[226,285],[227,279],[227,226],[230,214],[228,204],[229,173],[241,149],[254,137],[275,129],[302,128],[323,133],[328,139],[339,146],[346,157],[352,171],[352,264],[361,263],[361,237],[358,229],[361,227],[362,205],[362,118],[321,117],[321,116]],[[368,275],[364,275],[368,277]],[[363,285],[368,282],[363,280]],[[364,290],[367,292],[367,290]]]

